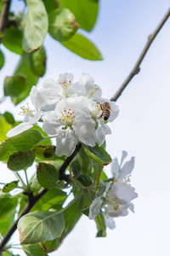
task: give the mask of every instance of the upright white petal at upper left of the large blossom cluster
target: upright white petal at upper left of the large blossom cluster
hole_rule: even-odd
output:
[[[31,102],[36,108],[36,110],[37,111],[40,110],[40,108],[42,108],[44,104],[44,99],[42,98],[41,93],[37,90],[36,86],[32,86],[30,97],[31,97]]]

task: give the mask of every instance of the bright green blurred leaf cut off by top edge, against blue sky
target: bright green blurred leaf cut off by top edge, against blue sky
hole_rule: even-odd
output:
[[[75,15],[81,28],[90,32],[97,19],[99,3],[96,0],[59,0],[61,7],[66,7]]]

